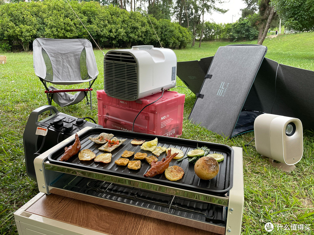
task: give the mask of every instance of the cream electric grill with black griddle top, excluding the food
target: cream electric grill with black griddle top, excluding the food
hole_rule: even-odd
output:
[[[74,136],[71,136],[35,158],[39,190],[219,234],[240,234],[244,201],[241,148],[234,150],[222,144],[86,127],[78,132],[81,149],[90,149],[96,155],[104,153],[98,150],[101,145],[89,140],[102,132],[127,139],[111,152],[110,163],[83,162],[77,155],[66,162],[59,161],[64,148],[74,143]],[[167,180],[164,174],[144,177],[150,165],[143,160],[140,170],[114,163],[125,150],[152,155],[130,142],[133,138],[149,141],[156,137],[157,146],[178,148],[185,155],[202,146],[207,146],[210,153],[223,154],[225,159],[219,163],[218,175],[212,180],[199,179],[194,173],[194,165],[187,159],[180,162],[173,159],[170,163],[181,166],[185,172],[177,181]],[[159,160],[162,157],[165,153],[160,154]],[[237,174],[234,174],[235,168]]]

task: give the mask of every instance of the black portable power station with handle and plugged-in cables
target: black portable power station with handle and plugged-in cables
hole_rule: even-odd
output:
[[[32,111],[23,134],[27,175],[36,181],[35,157],[85,127],[102,128],[102,126],[88,122],[84,118],[75,118],[61,113],[51,105],[45,105]]]

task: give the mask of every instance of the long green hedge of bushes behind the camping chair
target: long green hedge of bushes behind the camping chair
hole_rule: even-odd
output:
[[[97,44],[102,47],[120,47],[138,44],[182,48],[192,40],[192,33],[170,20],[156,20],[139,12],[127,12],[113,5],[100,6],[98,2],[71,1],[77,13]],[[14,48],[18,43],[28,51],[36,38],[93,40],[75,16],[70,6],[62,0],[5,3],[0,5],[0,47]]]

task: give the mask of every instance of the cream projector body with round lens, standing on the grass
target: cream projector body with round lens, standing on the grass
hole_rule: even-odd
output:
[[[298,118],[261,114],[254,121],[255,148],[265,157],[295,165],[303,155],[303,128]]]

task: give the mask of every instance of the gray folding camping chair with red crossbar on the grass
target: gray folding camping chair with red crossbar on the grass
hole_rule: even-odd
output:
[[[98,76],[92,44],[87,39],[37,38],[33,42],[33,60],[36,76],[46,88],[48,104],[53,100],[59,106],[76,104],[86,97],[92,110],[91,86]],[[88,88],[59,90],[54,85],[74,85],[89,82]],[[74,95],[68,92],[77,92]],[[89,92],[89,100],[88,100]]]

